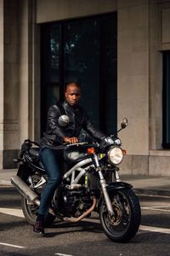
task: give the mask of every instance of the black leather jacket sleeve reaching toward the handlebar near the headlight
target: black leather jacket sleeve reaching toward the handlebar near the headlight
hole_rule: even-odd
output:
[[[83,120],[83,127],[85,131],[88,132],[88,134],[95,139],[97,139],[99,142],[101,142],[106,136],[103,132],[97,130],[94,125],[92,125],[90,119],[88,118],[88,115],[84,113],[84,120]]]

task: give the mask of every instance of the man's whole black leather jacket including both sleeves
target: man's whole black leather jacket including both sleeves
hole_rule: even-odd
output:
[[[48,109],[46,132],[41,139],[42,145],[52,148],[53,146],[61,145],[64,142],[64,137],[79,137],[82,129],[98,141],[105,138],[105,134],[94,128],[87,114],[79,105],[72,107],[67,102],[64,102],[62,106],[70,118],[69,125],[65,127],[59,125],[60,108],[58,105],[51,106]]]

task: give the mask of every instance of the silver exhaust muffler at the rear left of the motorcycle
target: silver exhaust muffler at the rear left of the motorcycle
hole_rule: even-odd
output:
[[[24,195],[28,201],[40,206],[38,195],[32,191],[19,176],[11,177],[10,180],[14,188],[17,189],[21,195]]]

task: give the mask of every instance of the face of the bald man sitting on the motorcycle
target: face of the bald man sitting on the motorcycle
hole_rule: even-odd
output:
[[[65,99],[69,105],[77,105],[81,97],[81,90],[75,84],[70,84],[65,91]]]

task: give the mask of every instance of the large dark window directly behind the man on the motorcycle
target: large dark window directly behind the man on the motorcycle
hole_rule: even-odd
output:
[[[116,131],[116,13],[42,25],[41,125],[64,100],[65,84],[82,85],[80,104],[96,127]]]

